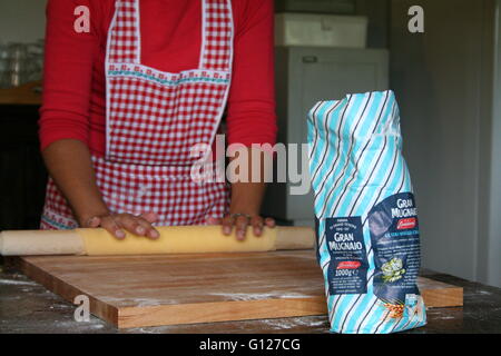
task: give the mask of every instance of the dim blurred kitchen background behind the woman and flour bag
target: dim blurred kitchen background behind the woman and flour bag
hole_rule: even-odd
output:
[[[423,267],[501,287],[499,1],[275,2],[281,140],[305,140],[305,115],[318,99],[393,89],[420,208]],[[0,87],[27,81],[0,89],[0,229],[36,228],[43,199],[36,80],[45,6],[0,0]],[[424,9],[424,33],[407,30],[412,6]],[[291,197],[287,188],[268,189],[265,212],[310,224],[310,197]]]

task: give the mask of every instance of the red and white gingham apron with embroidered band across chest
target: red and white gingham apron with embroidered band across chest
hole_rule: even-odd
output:
[[[230,0],[203,0],[197,69],[163,72],[140,63],[139,0],[117,0],[106,55],[106,156],[92,156],[97,185],[114,212],[154,211],[157,225],[222,217],[225,182],[194,181],[197,144],[210,146],[226,103],[233,61]],[[216,168],[214,168],[216,169]],[[49,178],[42,229],[77,227]]]

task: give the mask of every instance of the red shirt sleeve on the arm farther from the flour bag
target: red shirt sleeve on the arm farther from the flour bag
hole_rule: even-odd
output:
[[[73,28],[79,6],[90,10],[90,32],[78,33]],[[49,0],[47,4],[41,149],[63,138],[88,144],[91,71],[98,46],[95,11],[90,0]]]

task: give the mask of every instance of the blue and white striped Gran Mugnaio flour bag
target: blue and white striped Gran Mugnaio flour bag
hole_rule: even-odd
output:
[[[331,332],[425,325],[419,222],[393,91],[316,103],[308,147]]]

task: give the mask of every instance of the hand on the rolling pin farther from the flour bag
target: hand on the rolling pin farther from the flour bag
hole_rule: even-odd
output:
[[[118,239],[126,237],[126,230],[137,236],[157,239],[160,237],[160,234],[151,225],[157,219],[158,217],[154,212],[146,212],[140,216],[131,214],[107,214],[91,217],[82,225],[84,227],[102,227]]]

